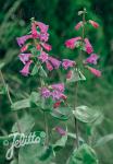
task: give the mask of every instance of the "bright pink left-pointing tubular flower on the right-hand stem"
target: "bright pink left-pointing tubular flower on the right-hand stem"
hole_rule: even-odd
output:
[[[65,42],[65,46],[67,48],[74,49],[76,47],[76,42],[78,42],[80,39],[81,39],[81,37],[74,37],[74,38],[67,39]]]

